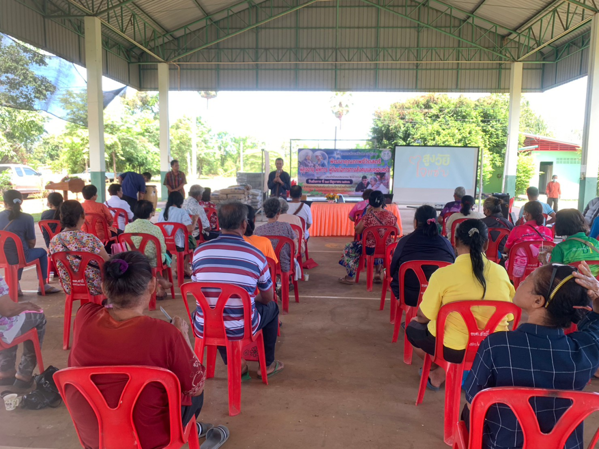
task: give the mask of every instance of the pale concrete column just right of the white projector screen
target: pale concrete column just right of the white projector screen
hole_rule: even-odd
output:
[[[520,134],[520,98],[522,95],[522,62],[512,62],[510,70],[510,108],[507,122],[506,160],[503,165],[503,192],[516,194],[518,136]]]

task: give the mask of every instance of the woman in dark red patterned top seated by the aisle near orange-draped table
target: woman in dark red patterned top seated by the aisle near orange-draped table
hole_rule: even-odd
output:
[[[400,235],[400,227],[397,226],[397,219],[394,214],[385,210],[385,195],[378,190],[375,190],[368,197],[368,208],[364,218],[355,226],[356,234],[361,234],[367,227],[376,226],[395,226],[397,235]],[[385,235],[385,229],[377,229],[379,236]],[[391,235],[387,238],[386,245],[391,245],[393,238]],[[366,253],[374,254],[376,248],[376,239],[372,233],[368,233],[366,236]],[[358,262],[362,255],[362,242],[349,242],[343,249],[343,254],[339,260],[339,265],[345,267],[347,275],[339,278],[341,284],[355,284],[356,271],[358,271]],[[374,260],[374,282],[380,283],[380,270],[383,263],[383,259]]]

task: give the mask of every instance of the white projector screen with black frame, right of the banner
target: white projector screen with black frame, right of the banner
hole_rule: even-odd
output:
[[[458,186],[475,196],[478,147],[395,147],[393,202],[445,204]]]

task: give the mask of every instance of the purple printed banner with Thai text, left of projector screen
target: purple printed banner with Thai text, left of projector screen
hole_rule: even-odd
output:
[[[393,151],[298,149],[298,184],[306,195],[362,195],[366,189],[389,193]]]

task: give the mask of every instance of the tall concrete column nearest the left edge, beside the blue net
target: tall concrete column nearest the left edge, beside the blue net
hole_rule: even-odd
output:
[[[104,98],[102,96],[102,33],[98,17],[85,17],[85,65],[87,69],[87,129],[92,184],[98,202],[106,199],[104,162]]]

